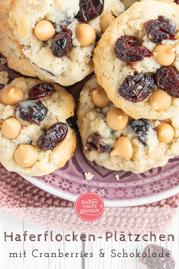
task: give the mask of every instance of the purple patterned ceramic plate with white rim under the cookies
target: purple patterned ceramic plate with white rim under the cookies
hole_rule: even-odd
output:
[[[10,80],[21,76],[5,65],[0,65],[0,71],[2,70],[8,71]],[[76,100],[86,80],[72,87],[66,87]],[[104,199],[107,207],[153,203],[179,192],[179,157],[170,160],[164,167],[151,169],[138,175],[132,172],[115,172],[88,161],[83,153],[78,130],[77,137],[75,155],[63,168],[38,178],[22,176],[37,187],[70,201],[75,201],[82,192],[96,192]],[[85,172],[90,172],[94,175],[93,178],[87,180]]]

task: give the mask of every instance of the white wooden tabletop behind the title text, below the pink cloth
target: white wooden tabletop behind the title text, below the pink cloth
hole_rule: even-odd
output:
[[[103,239],[86,242],[51,242],[47,240],[46,242],[33,242],[30,240],[23,240],[21,242],[15,241],[15,234],[23,235],[24,231],[28,231],[28,234],[41,234],[44,231],[53,231],[53,234],[56,235],[60,233],[63,238],[70,232],[64,230],[55,230],[49,227],[40,226],[37,224],[33,224],[28,221],[24,221],[18,217],[10,215],[2,210],[0,210],[0,261],[2,269],[31,269],[31,268],[43,268],[43,269],[109,269],[109,268],[134,268],[134,269],[147,269],[147,267],[139,261],[139,258],[119,258],[119,257],[111,257],[111,250],[115,249],[116,253],[122,251],[124,248],[128,253],[134,252],[137,248],[138,250],[143,250],[146,247],[145,242],[135,242],[135,244],[131,244],[131,242],[115,242],[105,241],[104,234],[95,234],[96,237],[102,236]],[[161,242],[156,241],[156,244],[162,245],[163,247],[168,248],[172,251],[172,255],[175,259],[175,268],[179,268],[179,258],[178,258],[178,224],[179,224],[179,214],[176,215],[175,220],[172,222],[172,225],[167,231],[168,234],[175,234],[175,242]],[[4,242],[4,231],[7,234],[13,231],[13,242],[10,241],[10,238],[7,238],[7,241]],[[79,232],[77,232],[79,234]],[[80,233],[81,234],[81,233]],[[89,233],[88,233],[89,234]],[[21,237],[22,239],[22,237]],[[39,253],[54,253],[58,254],[58,249],[60,249],[60,253],[93,253],[93,257],[39,257]],[[100,257],[100,250],[104,252],[104,257]],[[23,257],[22,253],[26,252],[26,257]],[[34,256],[32,256],[32,250],[34,251]],[[37,251],[38,250],[38,251]],[[114,251],[113,251],[114,252]],[[10,253],[17,253],[18,257],[9,257]],[[21,254],[20,254],[21,253]],[[19,257],[19,256],[22,257]],[[47,255],[47,254],[46,254]],[[51,254],[50,254],[51,255]],[[61,254],[62,255],[62,254]],[[69,254],[71,255],[71,254]],[[73,254],[74,256],[75,254]],[[113,255],[113,254],[112,254]],[[168,269],[168,268],[167,268]]]

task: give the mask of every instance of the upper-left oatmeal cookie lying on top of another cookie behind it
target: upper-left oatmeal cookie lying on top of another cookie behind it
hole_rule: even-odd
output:
[[[9,24],[20,50],[47,79],[66,86],[93,71],[93,50],[104,28],[101,17],[124,11],[119,0],[20,0],[11,4]]]

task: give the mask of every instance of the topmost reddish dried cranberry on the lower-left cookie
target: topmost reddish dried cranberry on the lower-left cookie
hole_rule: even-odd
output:
[[[29,99],[34,100],[40,97],[51,96],[54,91],[55,88],[52,84],[47,82],[38,83],[30,89]]]

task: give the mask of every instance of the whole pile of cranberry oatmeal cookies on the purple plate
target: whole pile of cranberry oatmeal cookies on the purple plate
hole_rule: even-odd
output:
[[[2,2],[0,52],[8,67],[38,77],[18,78],[0,93],[0,161],[8,170],[45,175],[72,157],[75,101],[59,85],[93,70],[77,110],[90,161],[141,173],[179,155],[179,6],[125,7],[119,0]]]

